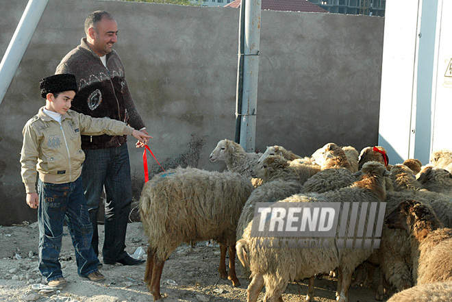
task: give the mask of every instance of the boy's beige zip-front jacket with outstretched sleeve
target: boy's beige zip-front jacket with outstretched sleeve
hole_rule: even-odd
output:
[[[80,135],[131,135],[133,128],[110,118],[92,118],[73,110],[62,116],[61,123],[40,108],[23,128],[21,175],[27,193],[36,192],[36,174],[43,182],[64,184],[81,174],[85,153]]]

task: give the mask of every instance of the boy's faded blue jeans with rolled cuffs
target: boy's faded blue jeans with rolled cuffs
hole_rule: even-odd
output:
[[[77,273],[96,272],[99,260],[91,247],[92,226],[81,177],[66,184],[38,181],[39,270],[47,281],[63,277],[58,256],[66,221],[75,248]]]

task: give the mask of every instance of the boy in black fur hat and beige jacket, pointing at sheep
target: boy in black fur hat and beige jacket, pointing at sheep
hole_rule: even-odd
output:
[[[69,110],[77,92],[74,75],[41,79],[40,90],[46,105],[23,128],[21,151],[27,204],[38,207],[39,269],[49,286],[66,285],[58,262],[66,220],[75,247],[77,273],[91,281],[103,281],[105,277],[97,268],[99,260],[91,246],[92,225],[80,177],[85,158],[80,135],[132,135],[143,144],[151,136],[121,121]]]

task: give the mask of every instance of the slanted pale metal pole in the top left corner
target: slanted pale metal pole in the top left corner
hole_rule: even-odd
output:
[[[49,0],[29,0],[0,63],[0,104]]]

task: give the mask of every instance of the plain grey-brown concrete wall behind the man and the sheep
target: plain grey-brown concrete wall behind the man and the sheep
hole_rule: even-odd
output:
[[[3,55],[26,0],[0,0]],[[44,104],[38,81],[79,44],[94,10],[118,22],[115,45],[150,144],[169,168],[222,170],[208,156],[234,139],[239,10],[121,1],[50,0],[0,105],[0,224],[36,220],[25,203],[21,130]],[[281,144],[310,155],[327,142],[358,151],[377,143],[384,19],[263,11],[256,148]],[[130,140],[134,194],[144,182],[142,150]],[[151,162],[151,173],[160,167]]]

